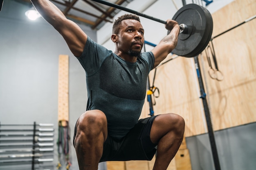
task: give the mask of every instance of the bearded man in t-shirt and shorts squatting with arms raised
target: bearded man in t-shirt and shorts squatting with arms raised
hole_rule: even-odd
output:
[[[167,113],[139,120],[150,70],[177,44],[179,25],[151,51],[141,53],[144,29],[137,15],[113,24],[115,52],[95,43],[48,0],[31,0],[42,17],[63,36],[85,69],[87,111],[76,122],[74,147],[80,170],[97,170],[102,161],[151,160],[153,170],[166,170],[183,139],[184,120]]]

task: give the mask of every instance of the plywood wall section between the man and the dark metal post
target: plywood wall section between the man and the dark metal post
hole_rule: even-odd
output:
[[[171,56],[168,56],[168,59],[170,58]],[[154,71],[150,72],[151,82],[153,76]],[[159,98],[155,98],[155,115],[164,113],[181,115],[186,122],[185,133],[188,136],[206,132],[193,58],[178,57],[159,66],[154,85],[160,91]],[[142,115],[149,113],[148,108],[148,102],[145,101]]]

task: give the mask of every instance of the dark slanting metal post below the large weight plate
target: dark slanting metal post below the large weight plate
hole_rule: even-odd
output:
[[[214,132],[213,132],[212,124],[211,124],[211,116],[210,116],[210,112],[209,112],[209,107],[208,107],[207,100],[206,100],[206,94],[204,93],[204,84],[202,81],[202,76],[200,74],[201,72],[200,72],[200,65],[198,62],[198,56],[194,57],[194,60],[195,60],[196,72],[198,75],[199,87],[200,87],[200,94],[201,94],[200,98],[202,98],[202,102],[203,102],[203,106],[204,106],[204,114],[205,114],[207,128],[208,128],[208,135],[209,135],[210,144],[211,144],[211,152],[212,152],[212,156],[213,156],[214,166],[215,166],[215,170],[220,170],[220,162],[219,162]]]

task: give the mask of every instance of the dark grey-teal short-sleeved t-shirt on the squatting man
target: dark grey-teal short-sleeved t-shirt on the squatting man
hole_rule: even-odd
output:
[[[108,135],[124,137],[141,114],[147,76],[155,62],[153,53],[141,53],[136,63],[130,63],[88,37],[78,60],[86,72],[87,110],[103,111]]]

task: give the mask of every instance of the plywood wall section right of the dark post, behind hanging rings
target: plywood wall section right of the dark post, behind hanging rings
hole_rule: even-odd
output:
[[[236,0],[217,11],[213,14],[213,36],[254,16],[255,9],[255,0]],[[223,81],[210,78],[205,54],[201,57],[214,130],[256,121],[255,30],[256,19],[213,39]]]

